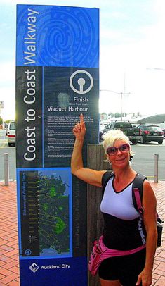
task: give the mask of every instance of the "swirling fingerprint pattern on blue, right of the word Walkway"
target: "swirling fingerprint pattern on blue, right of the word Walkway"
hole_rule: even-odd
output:
[[[98,67],[98,22],[93,23],[97,9],[38,7],[36,54],[39,65]],[[22,23],[25,30],[25,21]]]

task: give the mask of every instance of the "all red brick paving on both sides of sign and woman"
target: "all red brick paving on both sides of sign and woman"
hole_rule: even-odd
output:
[[[159,216],[165,221],[165,181],[160,181],[159,183],[151,182],[151,184],[157,197],[157,211],[159,212]],[[18,286],[20,285],[20,279],[18,266],[16,182],[10,182],[8,187],[4,186],[4,182],[0,182],[0,203],[0,286]],[[152,285],[165,285],[164,269],[165,231],[162,246],[157,249],[154,260]]]

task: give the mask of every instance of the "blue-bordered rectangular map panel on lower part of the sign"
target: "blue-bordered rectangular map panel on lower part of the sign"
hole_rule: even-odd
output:
[[[22,256],[72,256],[70,168],[20,172]]]

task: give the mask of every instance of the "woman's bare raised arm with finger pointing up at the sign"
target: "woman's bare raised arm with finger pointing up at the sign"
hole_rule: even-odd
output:
[[[84,180],[88,184],[101,187],[101,180],[105,170],[92,170],[84,168],[83,165],[82,148],[86,134],[86,125],[82,114],[80,115],[80,122],[74,125],[73,134],[75,136],[75,142],[71,159],[72,174],[76,175],[77,178]]]

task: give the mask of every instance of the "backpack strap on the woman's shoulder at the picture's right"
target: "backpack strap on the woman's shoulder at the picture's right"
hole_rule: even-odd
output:
[[[133,205],[135,209],[143,214],[143,182],[147,178],[144,175],[137,174],[136,178],[133,180],[132,186],[132,196],[133,196]]]

